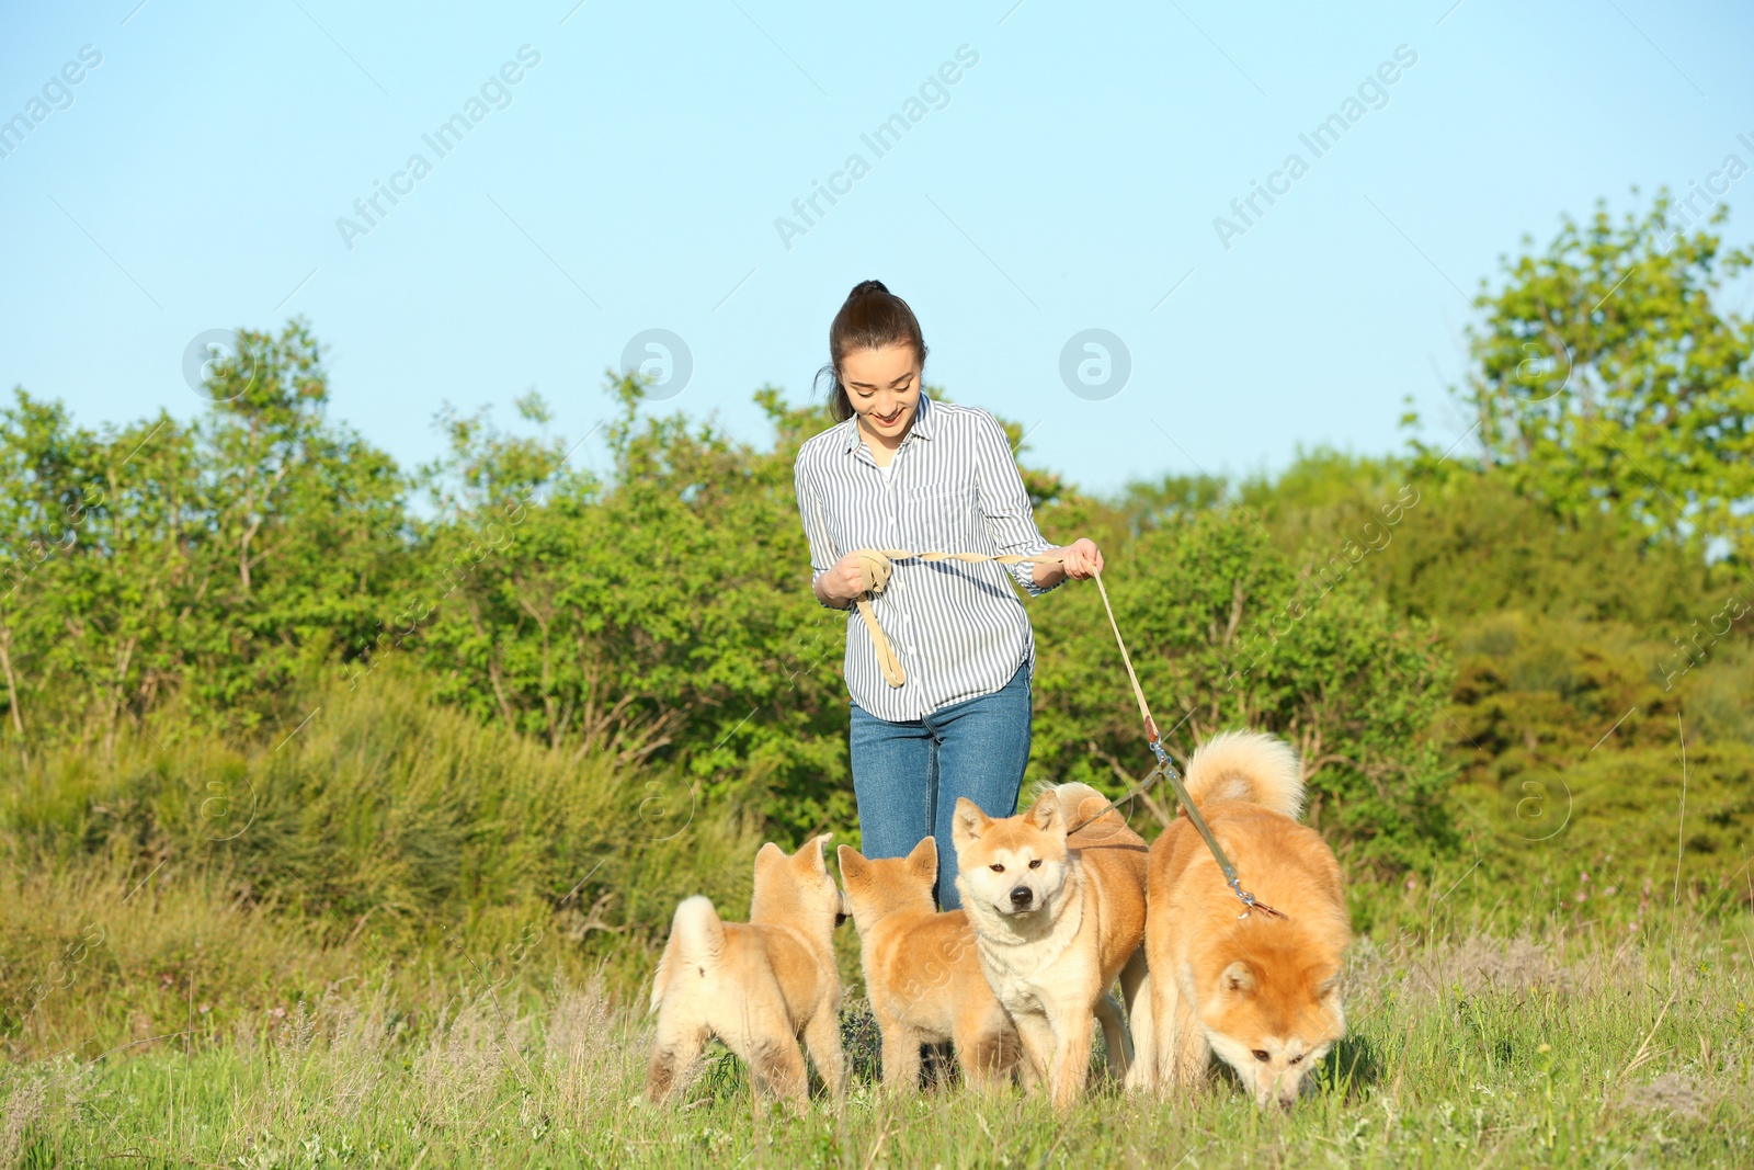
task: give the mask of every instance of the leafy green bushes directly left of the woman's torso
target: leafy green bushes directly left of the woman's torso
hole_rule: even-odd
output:
[[[819,412],[761,391],[779,440],[752,449],[710,423],[642,414],[631,379],[609,389],[621,409],[602,481],[560,465],[565,440],[484,417],[453,424],[451,453],[426,468],[456,505],[428,528],[419,574],[440,693],[581,754],[679,761],[698,793],[656,803],[730,798],[793,835],[849,826],[845,614],[810,595],[791,498]]]

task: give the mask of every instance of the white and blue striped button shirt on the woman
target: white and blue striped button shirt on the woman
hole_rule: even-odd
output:
[[[805,442],[795,475],[812,586],[858,549],[1030,554],[1049,547],[1003,428],[975,407],[921,393],[888,477],[859,439],[858,417]],[[1035,588],[1033,574],[1028,561],[896,561],[872,609],[907,682],[884,681],[870,631],[852,607],[845,656],[852,702],[879,719],[903,723],[991,695],[1019,667],[1033,677],[1035,631],[1010,586],[1014,579],[1031,596],[1045,593]]]

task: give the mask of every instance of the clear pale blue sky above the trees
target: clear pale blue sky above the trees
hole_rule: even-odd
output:
[[[1442,386],[1500,254],[1754,163],[1754,12],[1728,2],[468,9],[7,4],[0,119],[47,112],[0,140],[0,384],[86,424],[191,416],[191,339],[302,314],[332,412],[412,465],[446,402],[510,423],[535,388],[589,433],[603,370],[660,328],[693,365],[667,409],[761,440],[754,388],[809,393],[877,277],[928,381],[1107,491],[1387,451],[1408,395],[1463,437]],[[1300,135],[1366,82],[1317,158]],[[1282,195],[1221,239],[1256,182]],[[377,184],[405,195],[368,223]],[[1119,391],[1068,388],[1086,330],[1124,346]],[[1072,356],[1100,382],[1102,351]]]

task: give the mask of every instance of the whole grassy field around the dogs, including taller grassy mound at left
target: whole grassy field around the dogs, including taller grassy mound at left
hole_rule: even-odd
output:
[[[954,1086],[888,1098],[851,926],[842,1105],[766,1107],[717,1051],[649,1110],[670,910],[703,891],[740,917],[759,837],[675,775],[417,688],[312,703],[267,749],[0,761],[0,1170],[1754,1165],[1747,867],[1694,831],[1733,786],[1693,791],[1682,835],[1680,777],[1635,777],[1668,805],[1640,814],[1666,858],[1579,833],[1607,807],[1579,779],[1556,837],[1480,802],[1472,856],[1356,881],[1352,1035],[1289,1117],[1223,1074],[1170,1102],[1098,1077],[1065,1121]]]

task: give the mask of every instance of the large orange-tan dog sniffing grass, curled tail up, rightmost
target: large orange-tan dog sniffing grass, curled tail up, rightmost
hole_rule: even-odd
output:
[[[1310,1068],[1345,1035],[1340,952],[1351,940],[1340,865],[1303,805],[1298,758],[1282,740],[1228,731],[1187,761],[1187,795],[1242,886],[1280,910],[1245,910],[1187,817],[1151,847],[1147,1010],[1133,1017],[1128,1084],[1159,1093],[1196,1082],[1210,1052],[1266,1109],[1291,1109]]]

